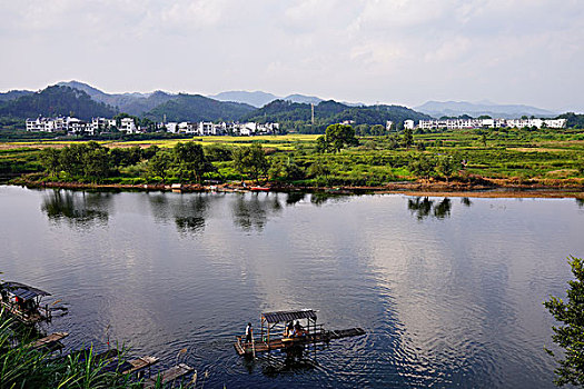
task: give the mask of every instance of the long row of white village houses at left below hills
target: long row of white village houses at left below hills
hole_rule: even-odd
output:
[[[185,133],[192,136],[258,136],[279,132],[278,123],[256,123],[256,122],[221,122],[214,123],[207,121],[198,122],[168,122],[156,123],[156,130],[172,133]],[[80,120],[71,117],[57,117],[27,119],[27,131],[57,132],[65,131],[72,134],[95,136],[100,132],[117,129],[126,133],[146,132],[148,128],[138,126],[133,118],[122,118],[119,121],[107,118],[92,118],[90,121]]]

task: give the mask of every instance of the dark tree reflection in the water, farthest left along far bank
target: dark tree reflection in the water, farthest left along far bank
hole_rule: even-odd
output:
[[[107,223],[111,193],[75,192],[53,190],[42,198],[41,210],[49,219],[71,225],[90,227]]]

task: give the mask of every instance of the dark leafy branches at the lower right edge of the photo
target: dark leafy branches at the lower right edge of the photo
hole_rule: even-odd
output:
[[[557,386],[574,385],[584,387],[584,261],[570,257],[568,263],[575,279],[568,281],[567,300],[551,297],[545,308],[561,322],[554,326],[552,339],[564,350],[564,359],[555,369]],[[546,350],[554,356],[554,352]]]

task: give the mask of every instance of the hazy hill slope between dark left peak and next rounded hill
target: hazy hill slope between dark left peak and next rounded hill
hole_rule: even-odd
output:
[[[140,116],[152,108],[162,104],[171,99],[175,99],[176,94],[166,93],[162,91],[156,91],[154,93],[106,93],[101,90],[93,88],[87,83],[79,81],[67,81],[59,82],[59,86],[70,87],[77,90],[82,90],[88,93],[93,100],[103,102],[106,104],[117,107],[121,112]]]

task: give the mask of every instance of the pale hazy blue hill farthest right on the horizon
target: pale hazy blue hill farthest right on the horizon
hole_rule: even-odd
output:
[[[523,106],[523,104],[495,104],[492,102],[467,102],[467,101],[427,101],[419,107],[414,108],[416,111],[424,112],[434,118],[458,117],[468,114],[479,117],[488,114],[493,118],[514,119],[522,116],[535,117],[555,117],[557,112],[545,109]]]

